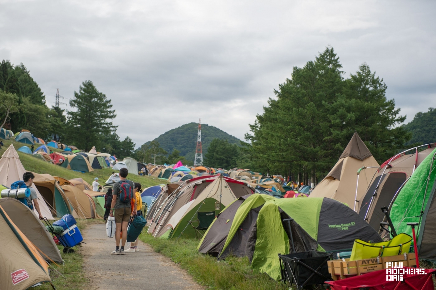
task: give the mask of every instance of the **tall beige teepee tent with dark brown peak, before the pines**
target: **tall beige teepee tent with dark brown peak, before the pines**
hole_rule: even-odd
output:
[[[361,170],[358,175],[358,169],[363,166],[368,169]],[[313,189],[309,197],[329,197],[344,202],[355,211],[358,211],[356,200],[361,199],[365,194],[378,166],[377,161],[375,161],[365,143],[357,132],[354,132],[353,137],[347,147],[345,147],[339,160],[333,166],[333,169]]]

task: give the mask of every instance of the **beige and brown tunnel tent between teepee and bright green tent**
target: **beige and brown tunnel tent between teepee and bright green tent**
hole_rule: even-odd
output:
[[[359,215],[374,229],[380,229],[380,222],[385,219],[380,209],[385,206],[391,208],[399,189],[434,148],[434,143],[412,148],[380,165],[366,194],[359,200]],[[405,154],[407,152],[412,154]]]

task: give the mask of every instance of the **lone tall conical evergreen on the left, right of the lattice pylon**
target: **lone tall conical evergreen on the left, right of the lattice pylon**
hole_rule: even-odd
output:
[[[68,111],[68,137],[78,148],[89,151],[92,146],[101,146],[102,135],[110,135],[117,128],[110,121],[116,117],[111,100],[92,81],[84,81],[74,92],[70,106],[76,111]]]

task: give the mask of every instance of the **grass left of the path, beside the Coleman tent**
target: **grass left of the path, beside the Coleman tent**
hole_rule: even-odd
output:
[[[101,219],[78,219],[77,226],[83,232],[86,226],[94,223],[103,223]],[[85,273],[83,271],[83,256],[81,253],[80,246],[75,246],[75,253],[64,254],[62,250],[63,246],[58,246],[61,251],[62,259],[65,263],[58,265],[51,264],[52,267],[50,277],[51,281],[58,290],[83,290],[83,289],[92,289],[91,285],[89,285],[89,281],[85,277]],[[55,270],[53,270],[53,268]],[[34,290],[49,290],[51,285],[49,283],[44,283],[41,286],[37,286],[32,288]]]

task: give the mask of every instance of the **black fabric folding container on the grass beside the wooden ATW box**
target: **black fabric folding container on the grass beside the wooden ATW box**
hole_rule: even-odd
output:
[[[331,253],[315,250],[287,255],[279,254],[282,282],[288,281],[290,284],[295,284],[297,289],[302,289],[306,285],[324,284],[324,281],[331,280],[327,261],[332,256]]]

